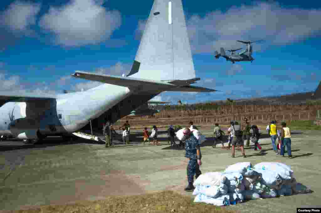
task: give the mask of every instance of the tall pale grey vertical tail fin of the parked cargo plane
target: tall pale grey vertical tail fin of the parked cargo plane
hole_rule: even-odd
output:
[[[148,80],[196,77],[181,0],[154,0],[127,77]]]

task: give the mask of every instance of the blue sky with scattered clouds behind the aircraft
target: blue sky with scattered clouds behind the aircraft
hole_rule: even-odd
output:
[[[126,2],[126,4],[125,4]],[[100,83],[75,70],[128,73],[152,0],[0,2],[0,91],[62,93]],[[315,90],[320,74],[321,3],[183,1],[198,86],[222,92],[162,93],[155,100],[194,103]],[[220,47],[253,44],[255,61],[215,59]]]

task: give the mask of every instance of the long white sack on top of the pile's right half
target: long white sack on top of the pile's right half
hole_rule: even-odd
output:
[[[263,169],[263,170],[270,170],[274,171],[275,173],[279,174],[285,180],[291,179],[293,175],[293,171],[291,168],[283,163],[278,162],[262,162],[258,163],[254,166],[255,170]]]

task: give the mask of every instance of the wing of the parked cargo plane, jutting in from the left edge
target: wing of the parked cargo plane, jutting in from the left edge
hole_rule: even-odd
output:
[[[6,102],[31,102],[56,99],[56,95],[21,92],[0,92],[0,106]]]

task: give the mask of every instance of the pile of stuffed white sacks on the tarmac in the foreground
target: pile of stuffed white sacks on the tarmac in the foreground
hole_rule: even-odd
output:
[[[296,182],[291,168],[283,163],[233,164],[221,172],[200,175],[194,182],[194,202],[227,206],[251,199],[273,198],[311,190]]]

